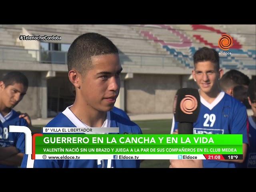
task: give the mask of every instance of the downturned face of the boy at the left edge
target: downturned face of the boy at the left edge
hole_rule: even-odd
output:
[[[4,82],[0,81],[0,102],[7,108],[14,108],[26,94],[28,88],[21,83],[14,83],[5,86]]]

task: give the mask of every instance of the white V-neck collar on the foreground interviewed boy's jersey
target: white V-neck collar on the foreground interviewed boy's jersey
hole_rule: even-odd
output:
[[[72,105],[71,105],[72,106]],[[76,126],[79,128],[83,127],[90,127],[86,124],[84,124],[82,121],[80,121],[75,114],[70,110],[70,107],[68,106],[62,113]],[[103,125],[101,127],[110,127],[110,112],[107,112],[107,118],[105,119]]]

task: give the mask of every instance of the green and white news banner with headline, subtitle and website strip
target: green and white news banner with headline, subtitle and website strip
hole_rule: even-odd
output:
[[[36,134],[32,143],[32,159],[242,159],[235,134]]]

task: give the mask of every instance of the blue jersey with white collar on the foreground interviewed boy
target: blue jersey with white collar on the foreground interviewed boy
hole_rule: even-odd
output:
[[[58,114],[46,127],[88,127],[81,122],[68,108]],[[119,127],[120,134],[142,134],[134,122],[107,112],[107,118],[102,127]],[[25,155],[22,168],[139,168],[140,160],[31,160],[31,155]]]

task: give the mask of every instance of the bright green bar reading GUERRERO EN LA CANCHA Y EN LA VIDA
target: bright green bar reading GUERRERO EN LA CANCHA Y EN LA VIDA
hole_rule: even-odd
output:
[[[36,146],[88,146],[88,145],[241,145],[242,135],[238,134],[44,134],[36,137]]]

